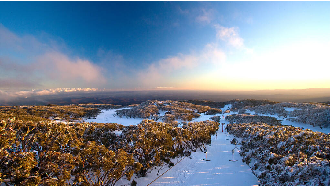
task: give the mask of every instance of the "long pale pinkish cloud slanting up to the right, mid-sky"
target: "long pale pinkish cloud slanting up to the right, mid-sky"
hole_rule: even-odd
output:
[[[216,44],[208,43],[200,52],[179,53],[150,64],[147,69],[138,72],[138,79],[141,86],[148,88],[182,85],[184,81],[178,83],[177,78],[183,72],[190,72],[193,75],[194,71],[203,66],[221,66],[225,60],[226,54]]]

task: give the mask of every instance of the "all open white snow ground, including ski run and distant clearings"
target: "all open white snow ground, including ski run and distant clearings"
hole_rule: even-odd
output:
[[[231,104],[225,105],[222,110],[227,110],[228,107],[231,107]],[[129,108],[121,108],[129,109]],[[143,119],[142,118],[119,118],[115,117],[115,111],[112,110],[102,110],[102,113],[94,119],[85,119],[87,122],[111,122],[118,123],[125,126],[139,124]],[[294,108],[285,108],[285,110],[292,111]],[[253,111],[247,111],[251,114],[255,114]],[[230,112],[224,114],[224,117],[231,114],[237,114],[237,112]],[[164,115],[163,111],[160,111],[159,116]],[[220,123],[225,123],[224,127],[228,124],[227,121],[222,119],[222,114],[216,114],[221,116]],[[329,133],[330,128],[321,129],[319,127],[314,127],[312,125],[307,125],[304,123],[286,121],[285,118],[277,117],[276,115],[270,114],[259,114],[264,116],[270,116],[282,120],[282,124],[293,125],[295,127],[308,128],[313,131]],[[214,115],[205,115],[201,114],[200,118],[195,118],[192,121],[204,121],[209,120]],[[181,123],[181,120],[177,120]],[[180,126],[180,125],[179,125]],[[172,167],[171,170],[166,172],[164,175],[155,180],[158,176],[157,170],[153,170],[151,173],[147,174],[144,178],[137,178],[133,175],[130,181],[120,180],[119,185],[124,185],[131,182],[133,179],[137,181],[137,186],[146,186],[153,180],[155,180],[150,186],[255,186],[259,184],[258,179],[253,175],[251,169],[242,162],[242,157],[239,155],[239,151],[235,149],[234,160],[236,162],[231,162],[228,160],[232,159],[231,150],[235,147],[233,144],[230,144],[232,138],[231,135],[227,137],[227,131],[222,132],[222,125],[220,124],[220,129],[217,132],[217,135],[212,136],[211,146],[207,146],[208,153],[207,159],[211,161],[204,161],[202,158],[205,158],[205,153],[201,152],[200,149],[197,149],[196,152],[192,152],[189,157],[183,159],[176,166]],[[116,131],[120,133],[120,131]],[[215,139],[217,137],[217,139]],[[236,138],[238,139],[238,138]],[[241,139],[238,139],[239,141]],[[240,146],[237,146],[240,148]],[[183,157],[182,157],[183,158]],[[177,163],[182,158],[172,160],[174,163]],[[161,170],[159,175],[167,171],[168,169]]]

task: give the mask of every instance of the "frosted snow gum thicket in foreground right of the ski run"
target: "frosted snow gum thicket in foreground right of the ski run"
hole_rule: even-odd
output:
[[[330,185],[329,134],[262,123],[229,124],[226,129],[242,138],[240,154],[260,171],[262,185]]]

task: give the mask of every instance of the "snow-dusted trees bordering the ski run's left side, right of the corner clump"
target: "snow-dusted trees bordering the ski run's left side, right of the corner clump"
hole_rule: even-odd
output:
[[[138,175],[145,177],[152,169],[161,170],[171,165],[171,158],[190,154],[204,144],[219,129],[215,121],[188,122],[180,127],[170,123],[143,120],[137,126],[128,126],[120,134],[123,149],[133,154],[143,166]]]

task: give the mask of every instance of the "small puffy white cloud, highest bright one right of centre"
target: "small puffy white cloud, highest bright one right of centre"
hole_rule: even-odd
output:
[[[244,47],[244,40],[240,37],[237,27],[224,27],[219,24],[215,25],[216,37],[219,40],[227,42],[229,45],[242,48]]]

